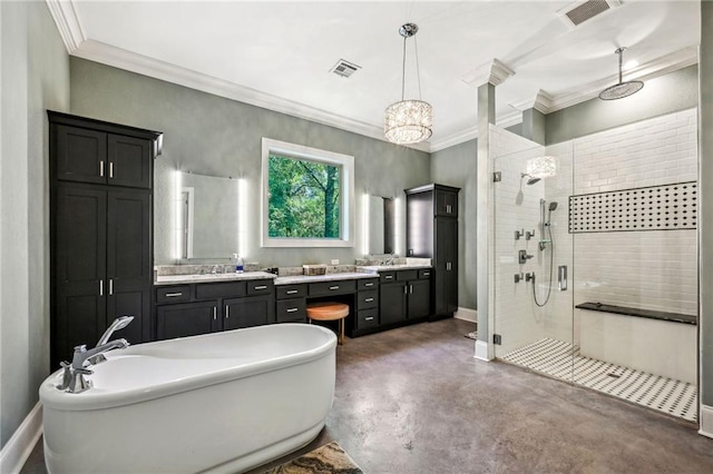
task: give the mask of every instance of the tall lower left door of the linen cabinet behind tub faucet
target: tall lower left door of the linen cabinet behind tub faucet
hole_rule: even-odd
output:
[[[71,361],[74,347],[94,346],[106,329],[105,191],[60,186],[53,225],[51,366]]]

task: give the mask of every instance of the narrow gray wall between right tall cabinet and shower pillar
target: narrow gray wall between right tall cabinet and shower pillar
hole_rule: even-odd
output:
[[[431,180],[460,188],[458,195],[458,306],[478,307],[477,221],[478,221],[478,140],[436,151],[431,155]]]

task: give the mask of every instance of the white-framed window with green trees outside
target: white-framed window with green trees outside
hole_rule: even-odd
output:
[[[263,247],[352,247],[354,158],[263,138]]]

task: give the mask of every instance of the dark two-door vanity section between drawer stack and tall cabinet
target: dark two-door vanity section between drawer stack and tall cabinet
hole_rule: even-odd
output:
[[[397,325],[431,314],[431,270],[381,271],[380,324]]]

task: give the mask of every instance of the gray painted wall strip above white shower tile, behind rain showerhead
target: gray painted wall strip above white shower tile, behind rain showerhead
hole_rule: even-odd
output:
[[[699,105],[699,67],[688,66],[647,80],[634,96],[621,100],[598,98],[546,116],[545,145],[560,144],[651,117]]]

